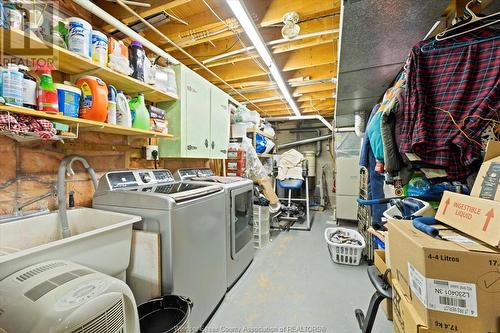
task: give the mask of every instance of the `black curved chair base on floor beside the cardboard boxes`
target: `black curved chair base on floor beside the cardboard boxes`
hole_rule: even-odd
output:
[[[370,305],[368,306],[366,316],[363,313],[363,310],[354,310],[354,315],[358,320],[359,328],[362,333],[370,333],[372,331],[373,323],[375,322],[375,317],[377,316],[380,303],[382,303],[384,299],[392,299],[392,287],[387,281],[388,273],[389,270],[382,274],[375,266],[368,267],[368,277],[375,287],[375,293],[370,299]]]

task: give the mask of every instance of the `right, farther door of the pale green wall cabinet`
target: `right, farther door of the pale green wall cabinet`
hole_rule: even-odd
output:
[[[211,158],[224,159],[229,144],[229,96],[212,86],[210,94]]]

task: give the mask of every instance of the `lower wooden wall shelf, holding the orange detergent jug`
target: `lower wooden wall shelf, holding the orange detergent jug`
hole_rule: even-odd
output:
[[[107,123],[101,123],[99,121],[94,120],[86,120],[81,118],[73,118],[67,117],[60,114],[52,114],[46,113],[43,111],[37,111],[28,109],[20,106],[13,105],[0,105],[0,111],[10,112],[15,114],[23,114],[27,116],[33,116],[38,118],[43,118],[47,120],[56,121],[58,123],[63,123],[67,125],[76,125],[78,124],[80,131],[88,131],[88,132],[99,132],[99,133],[109,133],[116,135],[125,135],[125,136],[140,136],[140,137],[157,137],[157,138],[173,138],[174,136],[171,134],[162,134],[153,131],[147,131],[137,128],[127,128],[118,125],[111,125]]]

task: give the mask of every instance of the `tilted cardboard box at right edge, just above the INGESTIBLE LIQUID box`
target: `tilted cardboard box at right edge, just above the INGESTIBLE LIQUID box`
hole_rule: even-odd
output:
[[[500,201],[500,141],[490,141],[471,196]]]

